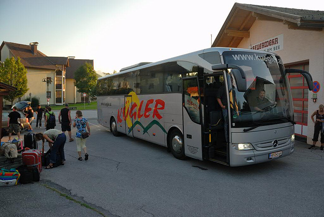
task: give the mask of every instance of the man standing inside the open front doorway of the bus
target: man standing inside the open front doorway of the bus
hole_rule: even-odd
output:
[[[226,95],[226,88],[225,83],[220,86],[217,91],[217,102],[222,108],[223,117],[224,117],[224,131],[225,131],[225,140],[228,143],[228,109],[227,109],[227,95]]]

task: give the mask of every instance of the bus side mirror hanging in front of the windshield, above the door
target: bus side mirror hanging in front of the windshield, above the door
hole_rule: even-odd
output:
[[[233,69],[232,74],[236,82],[236,88],[239,92],[247,91],[247,81],[244,70],[234,64],[217,64],[212,66],[213,70]],[[236,70],[235,70],[236,69]]]

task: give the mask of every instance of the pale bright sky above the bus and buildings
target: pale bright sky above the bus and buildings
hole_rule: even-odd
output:
[[[324,11],[324,1],[0,0],[0,43],[94,60],[99,73],[211,47],[234,3]]]

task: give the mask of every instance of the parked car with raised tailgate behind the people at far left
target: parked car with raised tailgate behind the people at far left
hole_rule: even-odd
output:
[[[23,113],[23,110],[27,108],[30,105],[30,101],[21,101],[16,103],[14,106],[17,107],[17,112],[19,112],[21,117],[21,129],[28,129],[28,118],[26,118],[25,114]],[[9,126],[8,126],[8,115],[12,112],[12,110],[4,110],[2,111],[2,129],[5,130],[6,133],[9,133]],[[19,122],[19,120],[18,120]]]

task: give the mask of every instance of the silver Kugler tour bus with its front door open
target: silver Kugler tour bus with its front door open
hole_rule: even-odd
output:
[[[139,63],[97,81],[98,122],[192,157],[242,166],[294,152],[289,73],[273,53],[209,48]]]

